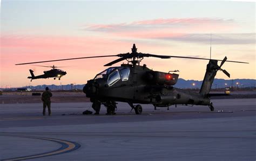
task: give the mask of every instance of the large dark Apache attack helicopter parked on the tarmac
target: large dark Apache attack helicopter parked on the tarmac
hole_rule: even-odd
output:
[[[230,74],[225,69],[221,68],[224,62],[239,62],[248,64],[248,62],[228,61],[227,57],[225,57],[223,60],[216,60],[138,53],[135,44],[133,44],[131,50],[131,53],[117,55],[38,61],[16,65],[73,59],[120,57],[119,59],[104,65],[112,66],[119,61],[127,60],[127,64],[122,64],[118,67],[109,67],[105,69],[105,71],[100,72],[95,76],[95,78],[87,81],[83,88],[86,97],[89,97],[90,101],[92,102],[92,108],[96,111],[95,114],[99,114],[100,106],[103,104],[107,108],[107,114],[111,115],[115,114],[114,111],[117,108],[117,101],[127,102],[129,106],[134,109],[136,114],[142,114],[142,106],[140,104],[152,104],[154,109],[157,107],[167,107],[167,109],[169,109],[169,106],[177,106],[177,104],[190,104],[192,106],[201,105],[208,106],[210,110],[213,111],[214,107],[210,100],[211,94],[209,94],[209,92],[217,71],[222,71],[224,74],[230,77]],[[153,71],[152,69],[147,68],[146,65],[140,66],[140,62],[145,57],[155,57],[161,59],[185,58],[209,60],[200,92],[197,93],[190,90],[174,88],[173,85],[177,83],[179,75],[171,73],[175,71],[165,73]],[[221,61],[220,65],[218,65],[218,61]],[[133,104],[137,105],[134,106]]]

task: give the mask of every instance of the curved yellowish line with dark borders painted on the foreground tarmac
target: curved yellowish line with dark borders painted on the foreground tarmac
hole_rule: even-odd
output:
[[[80,144],[75,143],[75,142],[70,142],[70,141],[65,141],[65,140],[55,139],[55,138],[21,136],[21,135],[2,135],[2,136],[42,139],[42,140],[45,140],[45,141],[52,141],[52,142],[59,143],[59,144],[62,145],[62,147],[60,147],[57,150],[53,150],[53,151],[49,151],[49,152],[45,152],[45,153],[39,153],[39,154],[36,154],[36,155],[31,155],[31,156],[23,156],[23,157],[16,157],[16,158],[1,159],[1,161],[7,161],[7,160],[26,160],[26,159],[48,157],[48,156],[53,156],[53,155],[60,155],[60,154],[63,154],[63,153],[67,153],[67,152],[71,152],[71,151],[77,150],[81,146]]]

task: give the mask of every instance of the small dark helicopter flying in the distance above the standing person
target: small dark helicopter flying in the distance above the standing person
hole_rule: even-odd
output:
[[[57,69],[59,67],[56,66],[42,66],[42,65],[35,65],[35,66],[41,66],[41,67],[50,67],[52,68],[50,71],[44,71],[44,74],[42,75],[34,75],[34,71],[32,69],[29,69],[29,72],[31,74],[31,76],[28,76],[28,79],[31,79],[30,81],[32,82],[33,79],[46,79],[46,78],[53,78],[54,80],[56,80],[56,78],[58,78],[60,80],[60,78],[62,78],[63,75],[66,75],[66,72],[64,72],[61,69]]]

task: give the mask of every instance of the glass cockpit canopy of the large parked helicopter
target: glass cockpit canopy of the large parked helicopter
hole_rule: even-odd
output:
[[[110,67],[107,68],[105,71],[97,74],[94,79],[107,79],[107,85],[112,86],[120,79],[122,81],[129,80],[129,76],[130,68],[128,67]]]

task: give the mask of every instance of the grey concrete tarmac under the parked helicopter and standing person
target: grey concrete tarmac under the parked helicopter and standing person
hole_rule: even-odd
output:
[[[1,160],[255,160],[256,99],[82,115],[91,103],[0,104]]]

